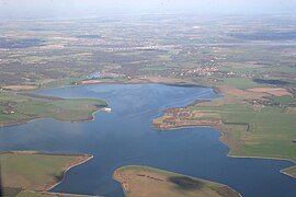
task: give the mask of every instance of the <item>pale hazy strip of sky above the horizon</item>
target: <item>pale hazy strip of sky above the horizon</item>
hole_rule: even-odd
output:
[[[296,0],[0,0],[0,20],[78,13],[282,14],[296,13]]]

